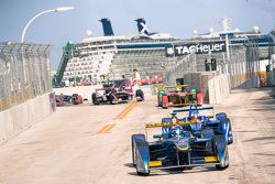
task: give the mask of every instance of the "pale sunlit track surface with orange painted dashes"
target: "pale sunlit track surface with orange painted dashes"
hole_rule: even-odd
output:
[[[275,183],[275,99],[271,89],[233,90],[215,111],[226,111],[234,142],[226,171],[197,167],[138,176],[131,136],[170,110],[156,97],[121,105],[67,106],[0,145],[1,184]]]

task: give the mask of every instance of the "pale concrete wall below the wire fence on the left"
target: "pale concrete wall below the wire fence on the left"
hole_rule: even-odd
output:
[[[45,94],[0,112],[0,144],[55,110],[54,95]]]

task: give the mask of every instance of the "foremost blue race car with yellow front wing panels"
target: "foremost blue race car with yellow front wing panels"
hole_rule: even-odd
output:
[[[148,142],[145,134],[132,136],[132,159],[138,175],[148,175],[152,170],[184,171],[194,166],[229,166],[228,140],[223,132],[199,122],[196,117],[179,119],[176,112],[172,118],[163,118],[160,123],[147,123],[146,129],[162,128],[154,134],[156,141]],[[218,126],[219,127],[219,126]]]

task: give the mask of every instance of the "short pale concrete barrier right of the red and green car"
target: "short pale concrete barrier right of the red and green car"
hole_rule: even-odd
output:
[[[209,104],[221,102],[231,93],[230,76],[222,74],[208,80]]]

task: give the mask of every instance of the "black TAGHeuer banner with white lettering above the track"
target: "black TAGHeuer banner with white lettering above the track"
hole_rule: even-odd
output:
[[[166,47],[166,56],[179,56],[187,54],[208,54],[208,53],[220,53],[226,52],[226,41],[217,42],[201,42],[201,43],[188,43],[182,45],[174,45]]]

